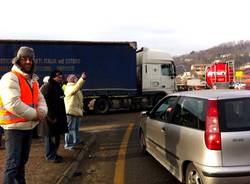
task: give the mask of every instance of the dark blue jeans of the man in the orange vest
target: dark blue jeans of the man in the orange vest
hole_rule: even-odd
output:
[[[32,130],[5,130],[6,166],[4,184],[25,184],[25,164],[29,159]]]

